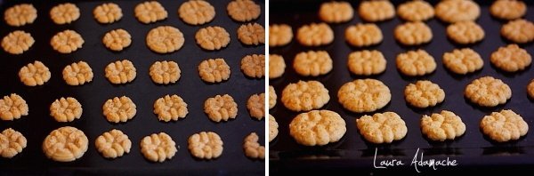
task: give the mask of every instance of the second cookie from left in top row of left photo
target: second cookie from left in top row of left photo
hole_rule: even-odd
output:
[[[56,24],[70,24],[80,18],[80,9],[76,4],[58,4],[50,10],[50,18]]]

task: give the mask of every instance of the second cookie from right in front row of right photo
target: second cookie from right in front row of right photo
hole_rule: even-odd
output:
[[[440,114],[433,113],[431,116],[424,115],[421,118],[421,132],[430,140],[454,140],[464,135],[465,124],[460,116],[442,110]]]

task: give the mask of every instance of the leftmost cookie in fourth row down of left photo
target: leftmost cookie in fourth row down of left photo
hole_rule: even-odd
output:
[[[28,104],[20,95],[12,93],[0,99],[0,119],[12,121],[21,116],[28,116]]]

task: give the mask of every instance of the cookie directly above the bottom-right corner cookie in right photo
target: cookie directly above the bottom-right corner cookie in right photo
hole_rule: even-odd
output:
[[[465,87],[465,98],[482,107],[496,107],[512,98],[512,90],[500,79],[484,76]]]

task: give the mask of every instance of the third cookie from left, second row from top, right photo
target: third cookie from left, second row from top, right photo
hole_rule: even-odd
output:
[[[345,29],[345,40],[356,47],[379,44],[382,39],[382,30],[373,23],[359,23]]]

